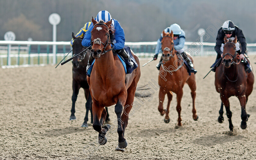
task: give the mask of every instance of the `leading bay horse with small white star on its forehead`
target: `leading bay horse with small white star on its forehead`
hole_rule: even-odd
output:
[[[92,18],[92,23],[94,27],[91,31],[91,52],[95,61],[91,76],[87,76],[87,81],[90,85],[93,101],[93,128],[99,132],[99,144],[106,144],[107,138],[105,135],[110,125],[106,124],[102,126],[106,118],[104,106],[108,107],[116,104],[115,113],[117,116],[117,132],[119,137],[116,150],[124,151],[123,148],[127,146],[124,132],[128,124],[128,115],[132,109],[133,99],[136,96],[135,91],[140,78],[140,61],[132,52],[138,67],[131,74],[126,75],[118,56],[112,52],[114,47],[111,48],[110,45],[108,28],[112,23],[112,19],[107,23],[102,20],[98,23]],[[125,106],[124,109],[123,106]]]

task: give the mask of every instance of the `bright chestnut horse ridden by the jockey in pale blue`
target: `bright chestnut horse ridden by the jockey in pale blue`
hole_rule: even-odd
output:
[[[165,123],[170,122],[169,118],[169,107],[172,100],[172,92],[176,93],[177,95],[177,106],[176,110],[178,112],[178,126],[181,126],[181,98],[183,96],[183,86],[185,83],[188,84],[191,90],[191,96],[193,100],[193,119],[197,120],[198,116],[196,113],[195,108],[195,97],[196,97],[196,77],[194,73],[191,73],[191,75],[188,74],[187,68],[184,66],[182,58],[180,58],[180,55],[176,54],[176,51],[174,50],[174,43],[173,43],[173,33],[165,33],[165,31],[162,32],[163,38],[162,38],[162,49],[163,54],[162,58],[164,63],[161,64],[159,73],[158,73],[158,84],[160,86],[159,89],[159,106],[158,111],[160,112],[161,116],[165,114]],[[193,58],[191,58],[191,61],[193,63]],[[163,77],[164,74],[164,77]],[[167,108],[163,109],[163,102],[165,99],[165,94],[167,94],[168,103]]]

